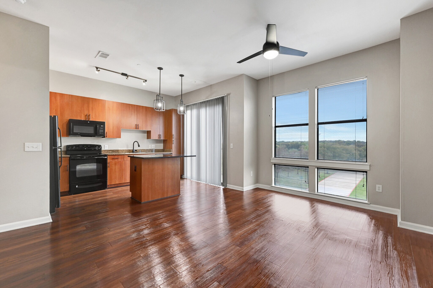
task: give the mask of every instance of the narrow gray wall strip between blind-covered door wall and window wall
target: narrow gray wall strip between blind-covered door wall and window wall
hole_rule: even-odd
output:
[[[253,172],[253,176],[251,176]],[[257,184],[257,80],[244,77],[244,186]]]

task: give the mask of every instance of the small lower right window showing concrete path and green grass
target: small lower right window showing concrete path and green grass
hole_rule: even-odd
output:
[[[367,172],[317,168],[317,192],[367,200]]]

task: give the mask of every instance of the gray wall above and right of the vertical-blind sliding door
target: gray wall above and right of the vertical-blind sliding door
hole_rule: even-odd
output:
[[[185,104],[198,102],[204,99],[229,94],[229,143],[228,149],[227,182],[229,185],[244,187],[244,79],[239,75],[207,87],[185,93]],[[180,102],[180,96],[176,97]]]

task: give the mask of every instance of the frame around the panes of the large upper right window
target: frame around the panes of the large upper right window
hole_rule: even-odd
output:
[[[368,159],[368,149],[367,149],[367,129],[368,129],[368,125],[367,125],[367,118],[368,118],[368,109],[366,110],[366,115],[367,117],[365,119],[356,119],[356,120],[340,120],[340,121],[324,121],[324,122],[319,122],[319,89],[320,88],[325,88],[325,87],[330,87],[330,86],[336,86],[336,85],[340,85],[340,84],[345,84],[345,83],[351,83],[351,82],[357,82],[357,81],[362,81],[362,80],[367,80],[367,77],[362,77],[359,79],[354,79],[354,80],[348,80],[348,81],[343,81],[343,82],[339,82],[339,83],[335,83],[335,84],[330,84],[330,85],[324,85],[324,86],[318,86],[316,87],[316,119],[317,119],[317,128],[316,128],[316,160],[319,161],[338,161],[338,162],[350,162],[353,163],[354,161],[347,161],[347,160],[334,160],[334,159],[320,159],[319,158],[319,125],[326,125],[326,124],[344,124],[344,123],[359,123],[359,122],[365,122],[365,161],[355,161],[355,163],[367,163],[367,159]],[[368,81],[367,81],[368,83]],[[367,93],[367,92],[366,92]],[[365,98],[365,106],[367,107],[367,101],[368,101],[368,97]],[[356,142],[355,142],[356,145]],[[316,183],[317,184],[317,183]]]

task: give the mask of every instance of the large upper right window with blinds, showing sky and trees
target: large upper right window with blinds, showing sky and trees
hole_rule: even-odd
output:
[[[367,79],[317,89],[317,159],[367,162]]]

